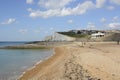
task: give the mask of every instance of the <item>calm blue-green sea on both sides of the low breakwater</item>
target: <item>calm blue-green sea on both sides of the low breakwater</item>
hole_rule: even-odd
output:
[[[0,47],[25,43],[0,42]],[[52,54],[53,49],[0,49],[0,80],[17,80],[26,70]]]

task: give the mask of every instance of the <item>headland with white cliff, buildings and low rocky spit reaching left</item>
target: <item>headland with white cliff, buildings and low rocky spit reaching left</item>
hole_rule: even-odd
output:
[[[70,30],[54,32],[42,41],[26,42],[23,45],[1,47],[4,49],[47,49],[73,42],[119,41],[120,30]]]

